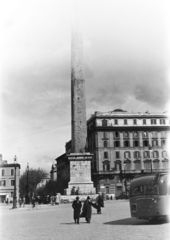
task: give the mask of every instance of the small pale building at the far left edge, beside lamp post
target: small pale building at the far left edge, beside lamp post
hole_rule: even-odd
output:
[[[13,202],[16,169],[16,197],[19,198],[20,164],[2,160],[0,154],[0,202]]]

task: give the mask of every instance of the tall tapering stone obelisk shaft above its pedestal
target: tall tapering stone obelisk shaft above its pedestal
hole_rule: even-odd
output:
[[[85,80],[83,74],[83,39],[80,32],[72,32],[71,43],[71,116],[72,153],[85,152],[87,125]]]

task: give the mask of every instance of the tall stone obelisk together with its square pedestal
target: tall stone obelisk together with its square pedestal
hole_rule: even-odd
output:
[[[67,155],[70,162],[70,182],[66,194],[94,194],[91,181],[93,155],[86,152],[87,123],[85,80],[83,74],[83,39],[80,32],[72,32],[71,44],[71,117],[72,149]]]

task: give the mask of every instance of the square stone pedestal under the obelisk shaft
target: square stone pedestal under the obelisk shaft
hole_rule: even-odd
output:
[[[70,162],[70,182],[66,189],[66,195],[95,194],[96,189],[91,181],[93,155],[90,153],[71,153],[67,157]]]

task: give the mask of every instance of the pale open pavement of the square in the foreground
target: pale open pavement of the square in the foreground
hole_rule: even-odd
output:
[[[9,210],[1,207],[2,240],[169,240],[170,223],[150,223],[130,217],[127,200],[106,201],[102,214],[93,208],[91,223],[73,221],[71,204]]]

